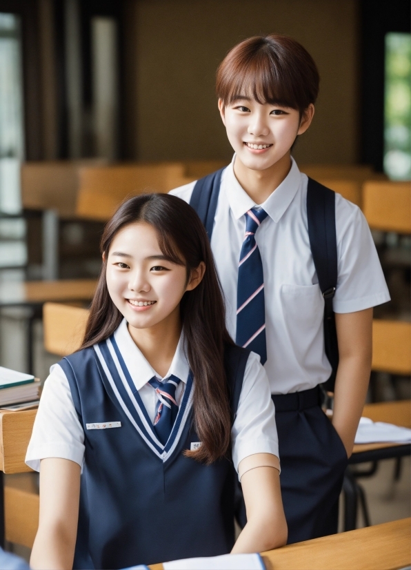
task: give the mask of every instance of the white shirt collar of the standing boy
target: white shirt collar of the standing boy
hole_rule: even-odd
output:
[[[241,184],[234,175],[234,157],[231,164],[225,169],[223,184],[227,193],[228,204],[235,219],[241,218],[255,206],[261,206],[274,222],[279,222],[285,210],[290,206],[294,196],[297,194],[301,182],[301,173],[296,161],[291,157],[291,168],[288,175],[283,179],[281,184],[277,186],[272,194],[265,200],[263,204],[255,204],[250,196],[243,190]]]

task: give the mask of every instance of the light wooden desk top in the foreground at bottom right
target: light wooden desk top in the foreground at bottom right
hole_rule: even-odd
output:
[[[267,570],[397,570],[411,564],[411,519],[261,553]],[[151,570],[163,570],[152,564]]]

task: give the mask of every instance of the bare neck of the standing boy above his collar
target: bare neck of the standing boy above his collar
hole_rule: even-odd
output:
[[[239,157],[234,162],[234,175],[255,204],[263,204],[287,177],[291,168],[291,154],[288,152],[275,164],[265,170],[252,170]]]

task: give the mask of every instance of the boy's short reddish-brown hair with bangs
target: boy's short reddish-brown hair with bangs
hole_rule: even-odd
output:
[[[295,39],[254,36],[234,46],[220,63],[216,92],[225,106],[246,95],[302,114],[317,99],[319,79],[314,59]]]

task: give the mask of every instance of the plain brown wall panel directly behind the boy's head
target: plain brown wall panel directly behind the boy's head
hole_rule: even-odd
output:
[[[217,66],[242,39],[277,32],[300,41],[321,74],[314,124],[295,156],[317,163],[358,160],[356,0],[142,0],[133,12],[134,136],[141,159],[229,160],[214,95]]]

